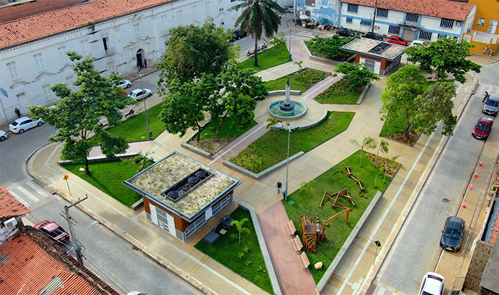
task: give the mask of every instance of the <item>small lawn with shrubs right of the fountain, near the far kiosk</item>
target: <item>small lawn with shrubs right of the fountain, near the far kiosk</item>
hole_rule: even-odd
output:
[[[341,79],[317,95],[314,100],[320,104],[356,104],[362,94],[362,90],[348,85],[345,79]]]

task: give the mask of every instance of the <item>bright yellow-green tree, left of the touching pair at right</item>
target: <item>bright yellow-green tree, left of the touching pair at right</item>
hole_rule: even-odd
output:
[[[405,65],[388,77],[385,91],[381,94],[382,119],[396,122],[399,117],[405,117],[406,137],[416,122],[416,97],[423,93],[422,82],[426,82],[426,77],[419,73],[419,68]]]

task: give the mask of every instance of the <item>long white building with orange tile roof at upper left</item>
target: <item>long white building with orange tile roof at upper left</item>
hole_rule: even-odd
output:
[[[27,105],[53,104],[55,82],[75,87],[72,63],[77,51],[95,59],[103,75],[129,74],[147,59],[154,65],[166,50],[168,29],[201,25],[235,28],[230,0],[100,0],[0,23],[0,124],[27,114]],[[7,97],[8,96],[8,97]]]

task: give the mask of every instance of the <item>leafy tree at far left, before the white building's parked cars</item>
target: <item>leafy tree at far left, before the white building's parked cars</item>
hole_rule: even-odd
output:
[[[104,77],[95,70],[92,58],[82,60],[74,51],[68,52],[73,61],[76,80],[73,85],[78,90],[71,90],[65,83],[55,83],[50,90],[60,97],[60,102],[53,108],[29,106],[31,116],[41,117],[43,121],[55,127],[55,134],[48,139],[64,142],[60,159],[85,163],[85,173],[90,174],[88,155],[97,141],[90,137],[100,137],[102,154],[112,157],[123,154],[129,145],[121,136],[110,134],[100,127],[100,119],[107,119],[109,127],[122,123],[121,109],[134,100],[123,94],[123,88],[116,87],[121,76]]]

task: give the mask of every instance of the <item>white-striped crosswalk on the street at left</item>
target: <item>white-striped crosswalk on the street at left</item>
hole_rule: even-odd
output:
[[[38,186],[32,180],[15,183],[9,186],[7,190],[30,210],[39,207],[43,203],[47,203],[52,198],[51,193],[45,191],[44,188]]]

